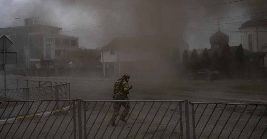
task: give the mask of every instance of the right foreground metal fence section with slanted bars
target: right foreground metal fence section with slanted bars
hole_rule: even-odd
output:
[[[267,138],[267,104],[190,104],[194,139]]]

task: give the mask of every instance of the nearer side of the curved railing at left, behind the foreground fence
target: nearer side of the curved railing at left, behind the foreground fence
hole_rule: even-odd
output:
[[[19,115],[25,115],[27,113],[27,109],[30,107],[30,100],[55,100],[55,99],[70,99],[70,91],[69,91],[69,83],[62,85],[54,85],[54,86],[44,86],[44,87],[35,87],[35,88],[21,88],[21,89],[6,89],[0,90],[1,100],[4,101],[27,101],[25,103],[25,107],[22,111],[20,111]],[[61,107],[63,104],[61,102],[57,103],[57,107]],[[42,104],[41,108],[38,112],[44,110],[44,104]],[[11,116],[14,116],[19,111],[20,106],[15,107],[15,113]],[[32,108],[37,107],[34,105]],[[11,107],[8,107],[7,103],[0,103],[0,108],[5,108],[10,110]],[[2,109],[3,110],[3,109]],[[1,111],[1,110],[0,110]],[[34,109],[30,110],[28,113],[32,114]],[[9,113],[6,111],[3,113],[2,118],[6,118]]]

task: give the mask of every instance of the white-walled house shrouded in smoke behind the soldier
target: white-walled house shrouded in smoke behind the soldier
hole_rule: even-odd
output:
[[[177,73],[174,65],[180,63],[183,51],[188,48],[178,33],[116,37],[101,47],[103,76],[120,77],[124,73],[139,79],[170,76]]]

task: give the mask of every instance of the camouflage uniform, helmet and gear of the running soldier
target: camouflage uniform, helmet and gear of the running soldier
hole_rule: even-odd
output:
[[[115,82],[113,87],[113,100],[126,100],[126,98],[128,99],[127,94],[129,94],[129,85],[126,78],[130,78],[130,76],[128,74],[124,74]],[[123,107],[126,106],[125,110],[123,111],[122,118],[125,119],[125,117],[127,116],[130,110],[130,104],[127,104],[127,102],[113,102],[114,116],[112,117],[112,120],[115,121],[117,119],[121,105]],[[125,122],[125,120],[123,121]]]

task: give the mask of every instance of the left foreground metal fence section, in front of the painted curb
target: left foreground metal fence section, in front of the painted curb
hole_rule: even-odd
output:
[[[29,102],[30,107],[24,116],[19,116],[15,109],[22,111]],[[1,101],[11,106],[6,120],[0,120],[1,138],[76,138],[76,100],[47,100],[47,101]],[[63,103],[56,108],[58,103]],[[45,105],[44,105],[45,104]],[[35,106],[35,107],[34,107]],[[34,107],[34,108],[33,108]],[[39,113],[44,107],[43,112]],[[73,110],[71,110],[73,108]],[[6,110],[7,111],[7,110]],[[28,115],[32,113],[32,115]],[[17,113],[11,118],[13,113]],[[0,119],[3,113],[0,113]]]

